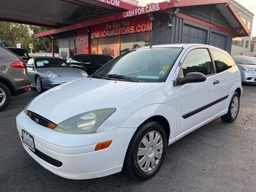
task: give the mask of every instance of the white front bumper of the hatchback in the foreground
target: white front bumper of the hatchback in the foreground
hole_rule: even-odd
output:
[[[22,111],[17,116],[17,129],[34,137],[35,148],[46,157],[61,162],[54,166],[51,161],[32,152],[22,143],[26,152],[44,168],[67,179],[92,179],[120,172],[125,153],[136,129],[119,128],[93,134],[64,134],[36,124]],[[112,140],[109,148],[94,151],[97,143]]]

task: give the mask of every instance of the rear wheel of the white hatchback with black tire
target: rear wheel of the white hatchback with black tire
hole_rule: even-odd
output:
[[[221,120],[223,122],[234,122],[236,120],[237,115],[239,113],[240,108],[240,96],[239,93],[235,92],[230,100],[230,104],[228,106],[228,113],[226,115],[221,116]]]

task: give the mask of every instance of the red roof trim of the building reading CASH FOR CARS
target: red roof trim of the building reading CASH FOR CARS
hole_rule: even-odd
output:
[[[104,0],[97,0],[104,1]],[[103,4],[108,4],[106,1]],[[125,19],[129,17],[136,17],[138,15],[147,15],[148,13],[154,13],[154,12],[168,12],[168,10],[175,10],[175,8],[182,8],[182,7],[188,7],[188,6],[200,6],[200,5],[206,5],[206,4],[212,4],[216,6],[220,12],[225,16],[227,21],[230,23],[230,26],[234,28],[234,30],[229,31],[230,35],[233,36],[250,36],[250,30],[246,28],[244,22],[241,20],[241,17],[237,13],[236,9],[230,1],[228,0],[181,0],[181,1],[165,1],[163,3],[157,3],[157,4],[151,4],[145,7],[136,7],[130,10],[125,10],[121,13],[115,13],[112,15],[108,15],[105,17],[100,17],[93,20],[86,20],[84,22],[80,22],[78,24],[65,26],[63,28],[58,29],[52,29],[51,31],[45,31],[43,33],[36,34],[36,37],[43,37],[43,36],[49,36],[49,35],[55,35],[58,33],[63,33],[65,31],[70,30],[76,30],[80,28],[86,28],[98,24],[103,24],[106,22],[111,22],[115,20]],[[109,5],[109,4],[108,4]],[[169,12],[170,13],[170,12]],[[173,12],[172,12],[173,13]],[[177,14],[177,17],[182,17],[181,13]],[[183,15],[184,16],[184,15]],[[198,19],[196,20],[198,21]],[[200,20],[199,20],[200,22]],[[213,26],[211,24],[211,26]],[[218,27],[218,26],[216,26]],[[226,29],[223,28],[223,31],[228,32]]]

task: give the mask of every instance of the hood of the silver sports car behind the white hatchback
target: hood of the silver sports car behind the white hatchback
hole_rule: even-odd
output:
[[[81,77],[81,72],[83,70],[72,67],[36,68],[36,72],[45,74],[45,76],[49,71],[59,75],[60,77]]]

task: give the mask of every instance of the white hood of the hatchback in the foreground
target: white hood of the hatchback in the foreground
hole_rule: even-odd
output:
[[[135,83],[83,78],[38,95],[28,110],[59,124],[95,109],[117,108],[159,83]]]

